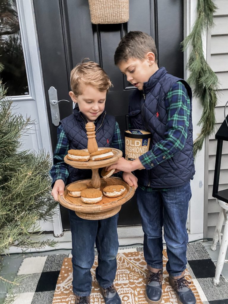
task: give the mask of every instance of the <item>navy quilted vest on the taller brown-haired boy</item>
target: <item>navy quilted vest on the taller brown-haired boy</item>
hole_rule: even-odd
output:
[[[166,69],[161,67],[150,77],[148,82],[144,83],[143,92],[139,90],[133,92],[129,104],[129,119],[133,129],[148,130],[152,133],[150,149],[155,143],[164,140],[168,117],[165,99],[172,85],[177,81],[181,81],[185,85],[191,103],[185,146],[173,157],[163,161],[155,168],[135,171],[138,183],[144,186],[153,188],[175,187],[189,181],[195,174],[192,139],[192,91],[187,82],[168,74]],[[159,113],[158,117],[157,112]]]

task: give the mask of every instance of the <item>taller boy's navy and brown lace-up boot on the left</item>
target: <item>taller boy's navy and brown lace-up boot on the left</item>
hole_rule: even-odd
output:
[[[146,285],[146,299],[150,304],[159,304],[162,300],[162,269],[158,272],[149,271]]]

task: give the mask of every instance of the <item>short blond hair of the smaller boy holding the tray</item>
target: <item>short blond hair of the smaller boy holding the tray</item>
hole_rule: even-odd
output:
[[[92,85],[100,92],[108,92],[112,83],[99,64],[88,61],[77,64],[71,71],[71,90],[76,97],[82,94],[81,85]]]

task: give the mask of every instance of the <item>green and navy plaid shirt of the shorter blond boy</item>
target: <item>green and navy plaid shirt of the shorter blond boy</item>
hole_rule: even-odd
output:
[[[49,174],[53,180],[51,185],[52,188],[54,186],[55,181],[57,181],[57,179],[62,179],[66,184],[67,178],[69,176],[68,165],[64,162],[64,156],[67,154],[67,151],[69,150],[69,142],[66,133],[63,130],[62,125],[60,125],[57,129],[57,139],[58,142],[53,154],[53,166],[49,171]],[[114,135],[112,138],[112,148],[116,148],[123,151],[123,140],[117,122],[115,125]]]

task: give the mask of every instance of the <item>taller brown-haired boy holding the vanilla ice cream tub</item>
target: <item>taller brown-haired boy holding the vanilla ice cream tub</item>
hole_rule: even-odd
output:
[[[164,67],[158,68],[154,40],[146,33],[134,31],[123,37],[115,52],[115,64],[137,88],[130,98],[131,128],[148,130],[153,135],[147,153],[134,161],[121,158],[108,167],[126,172],[146,169],[135,171],[149,270],[146,298],[149,303],[160,303],[162,299],[164,225],[170,284],[178,303],[195,304],[184,277],[190,179],[195,174],[191,88],[183,79],[168,74]]]

